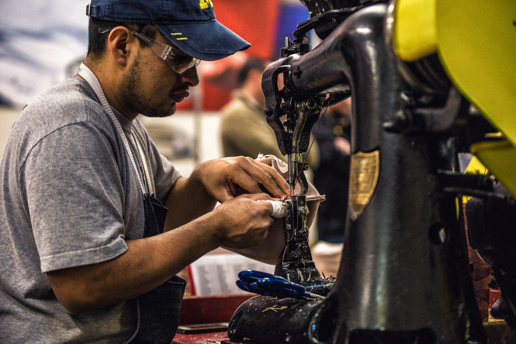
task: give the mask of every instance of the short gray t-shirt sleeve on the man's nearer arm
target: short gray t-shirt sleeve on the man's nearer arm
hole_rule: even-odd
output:
[[[91,123],[41,139],[20,171],[41,270],[100,263],[127,250],[117,150]]]

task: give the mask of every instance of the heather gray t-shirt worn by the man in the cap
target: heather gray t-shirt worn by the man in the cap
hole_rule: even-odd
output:
[[[114,112],[126,136],[142,143],[164,201],[179,173],[137,119]],[[124,152],[83,79],[63,81],[20,112],[0,163],[0,342],[112,343],[133,335],[134,301],[72,314],[45,275],[115,258],[126,240],[142,238],[141,188]]]

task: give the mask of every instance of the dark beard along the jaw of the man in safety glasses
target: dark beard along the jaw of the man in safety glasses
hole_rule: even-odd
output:
[[[176,110],[175,104],[171,107],[165,106],[164,103],[151,104],[150,101],[146,101],[141,96],[141,69],[139,68],[139,65],[140,57],[138,55],[131,67],[131,70],[123,77],[120,84],[121,99],[125,106],[129,110],[140,113],[146,117],[163,118],[171,116]]]

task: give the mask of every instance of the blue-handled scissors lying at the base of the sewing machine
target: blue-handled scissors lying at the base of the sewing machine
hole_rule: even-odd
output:
[[[271,273],[244,270],[238,273],[236,285],[245,291],[277,298],[324,299],[325,297],[308,292],[297,283],[289,282]]]

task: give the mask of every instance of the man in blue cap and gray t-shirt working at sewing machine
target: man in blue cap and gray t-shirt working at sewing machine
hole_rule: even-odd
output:
[[[87,13],[84,65],[22,110],[0,164],[3,343],[170,342],[174,274],[219,246],[258,245],[274,222],[265,200],[288,195],[251,158],[181,177],[136,119],[172,114],[200,59],[249,47],[212,1],[92,0]]]

